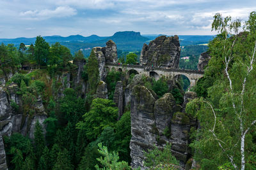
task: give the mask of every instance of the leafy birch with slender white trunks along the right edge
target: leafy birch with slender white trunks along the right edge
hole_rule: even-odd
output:
[[[202,127],[200,140],[191,146],[198,149],[195,158],[203,169],[256,168],[255,18],[252,12],[239,33],[241,20],[214,16],[212,30],[220,34],[210,43],[212,59],[205,74],[219,74],[207,89],[207,99],[195,99],[186,108]],[[212,69],[216,63],[220,70]]]

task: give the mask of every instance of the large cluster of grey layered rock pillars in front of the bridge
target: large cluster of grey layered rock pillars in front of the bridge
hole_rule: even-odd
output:
[[[193,97],[191,92],[187,97]],[[185,99],[188,101],[188,99]],[[186,104],[185,104],[186,105]],[[186,106],[185,106],[186,107]],[[143,151],[172,143],[172,153],[185,167],[189,159],[190,118],[175,103],[172,94],[156,99],[146,87],[135,85],[131,94],[131,166],[143,167]],[[143,167],[144,168],[144,167]]]

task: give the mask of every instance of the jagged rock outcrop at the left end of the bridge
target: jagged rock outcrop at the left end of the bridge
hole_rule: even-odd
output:
[[[105,80],[108,71],[105,68],[106,62],[117,62],[117,50],[116,50],[116,44],[114,41],[109,40],[106,43],[105,47],[96,46],[93,48],[93,52],[95,53],[98,64],[99,64],[99,78],[100,80]]]

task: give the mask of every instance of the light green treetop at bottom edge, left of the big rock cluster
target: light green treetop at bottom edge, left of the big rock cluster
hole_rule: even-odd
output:
[[[101,143],[99,143],[99,153],[104,156],[104,159],[102,157],[97,158],[97,160],[104,166],[104,168],[99,168],[99,166],[95,166],[96,169],[113,169],[113,170],[119,170],[119,169],[131,169],[130,166],[128,166],[128,163],[125,161],[118,162],[118,153],[109,153],[108,148],[106,146],[102,146]]]

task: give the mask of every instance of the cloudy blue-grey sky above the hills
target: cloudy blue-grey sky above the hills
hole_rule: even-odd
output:
[[[212,16],[220,12],[246,20],[255,0],[0,0],[0,38],[214,34]]]

